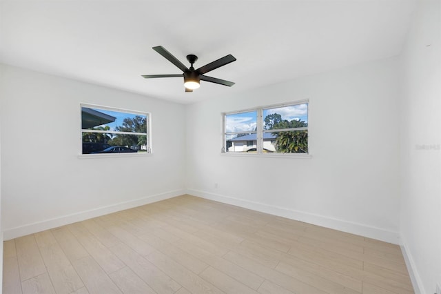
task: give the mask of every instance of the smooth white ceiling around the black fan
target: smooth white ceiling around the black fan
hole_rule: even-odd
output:
[[[398,55],[413,0],[0,0],[0,62],[179,103]],[[181,71],[153,46],[195,68],[228,54],[185,93]],[[23,81],[25,82],[25,81]]]

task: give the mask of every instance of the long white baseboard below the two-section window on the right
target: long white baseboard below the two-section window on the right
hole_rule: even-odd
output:
[[[252,202],[249,200],[238,199],[225,195],[218,195],[214,193],[206,193],[200,190],[187,189],[187,194],[197,197],[211,199],[217,202],[223,202],[225,204],[232,204],[243,208],[257,210],[263,213],[269,213],[271,215],[278,215],[280,217],[287,217],[289,219],[295,219],[300,222],[307,222],[309,224],[315,224],[317,226],[323,226],[325,228],[332,228],[334,230],[343,231],[351,234],[362,235],[372,239],[378,239],[384,242],[392,244],[400,244],[400,235],[398,232],[387,231],[382,228],[376,228],[365,224],[358,224],[355,222],[348,222],[342,219],[335,219],[332,217],[325,217],[322,215],[316,215],[314,213],[306,213],[299,210],[293,210],[289,208],[283,208],[278,206],[271,206],[268,204],[262,204],[258,202]]]

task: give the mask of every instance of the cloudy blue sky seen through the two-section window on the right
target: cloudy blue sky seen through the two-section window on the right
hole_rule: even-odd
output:
[[[297,104],[293,106],[284,106],[280,108],[271,108],[263,110],[263,118],[267,115],[278,113],[282,119],[291,121],[300,119],[308,122],[308,104]],[[243,112],[225,117],[225,131],[230,132],[247,132],[255,130],[257,126],[257,111]]]

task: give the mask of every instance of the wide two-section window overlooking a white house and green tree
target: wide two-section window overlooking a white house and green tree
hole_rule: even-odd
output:
[[[225,153],[308,153],[308,101],[223,113]]]

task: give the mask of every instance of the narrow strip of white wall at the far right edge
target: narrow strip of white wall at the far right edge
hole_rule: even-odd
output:
[[[441,4],[420,1],[402,54],[400,233],[417,293],[441,286]]]

